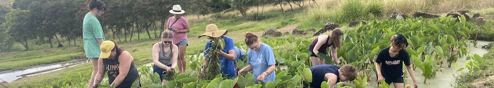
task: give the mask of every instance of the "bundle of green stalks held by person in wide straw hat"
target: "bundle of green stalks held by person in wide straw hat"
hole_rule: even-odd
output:
[[[201,69],[201,73],[199,74],[199,79],[202,80],[213,80],[216,75],[220,74],[221,60],[219,59],[218,52],[222,50],[221,42],[211,41],[213,47],[209,47],[206,49],[206,58],[205,63]]]

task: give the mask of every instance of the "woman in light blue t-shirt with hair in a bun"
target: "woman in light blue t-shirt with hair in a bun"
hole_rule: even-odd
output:
[[[257,35],[246,34],[247,67],[239,70],[239,75],[253,70],[252,75],[257,83],[274,82],[276,78],[276,63],[273,49],[267,44],[259,42]]]

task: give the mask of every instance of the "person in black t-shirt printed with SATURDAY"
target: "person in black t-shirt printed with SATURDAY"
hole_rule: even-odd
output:
[[[404,50],[408,46],[407,38],[402,34],[393,35],[391,45],[391,47],[382,49],[375,59],[377,82],[386,78],[384,81],[388,85],[394,83],[395,88],[403,88],[403,63],[405,63],[410,76],[412,76],[414,87],[418,88],[412,65],[410,65],[409,54]]]

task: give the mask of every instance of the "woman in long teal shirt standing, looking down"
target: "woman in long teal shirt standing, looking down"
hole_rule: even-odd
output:
[[[92,86],[94,76],[98,71],[97,64],[101,53],[100,44],[105,40],[103,29],[96,16],[101,16],[101,14],[105,13],[106,5],[99,0],[91,0],[89,1],[87,8],[90,11],[84,16],[82,22],[82,39],[84,40],[86,58],[91,60],[93,64],[93,72],[91,74],[91,80],[89,81],[89,86]]]

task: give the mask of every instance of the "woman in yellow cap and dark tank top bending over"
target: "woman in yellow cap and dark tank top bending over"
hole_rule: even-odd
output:
[[[116,88],[130,88],[132,85],[141,87],[139,73],[134,66],[134,58],[118,47],[114,41],[101,43],[101,56],[98,59],[98,73],[93,84],[97,88],[105,73],[108,74],[108,84]],[[135,82],[137,81],[137,82]]]

